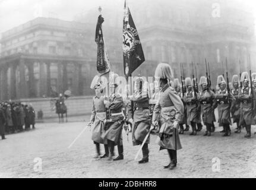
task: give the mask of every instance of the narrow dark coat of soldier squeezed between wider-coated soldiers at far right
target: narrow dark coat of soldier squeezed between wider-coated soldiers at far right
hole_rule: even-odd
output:
[[[238,94],[239,94],[239,88],[235,89],[233,88],[231,90],[231,94],[233,95],[233,97],[235,98],[234,100],[232,100],[232,104],[230,107],[230,112],[233,118],[233,123],[238,123],[240,121],[240,116],[241,116],[241,102],[238,99]]]

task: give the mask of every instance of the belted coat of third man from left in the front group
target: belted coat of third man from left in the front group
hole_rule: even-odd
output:
[[[151,124],[150,110],[148,109],[149,97],[147,92],[144,92],[142,96],[135,92],[131,101],[128,105],[128,119],[132,119],[133,112],[132,143],[133,145],[140,145],[146,137]],[[150,136],[148,136],[146,143],[150,143]]]

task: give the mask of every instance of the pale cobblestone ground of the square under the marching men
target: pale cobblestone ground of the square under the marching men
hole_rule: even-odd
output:
[[[89,117],[86,117],[86,121]],[[176,170],[164,170],[169,157],[165,150],[159,151],[156,136],[151,135],[150,162],[138,164],[134,156],[139,147],[129,143],[124,133],[125,159],[110,162],[93,159],[95,147],[91,132],[85,128],[86,121],[78,118],[68,123],[37,124],[35,130],[7,135],[0,140],[1,178],[255,178],[256,136],[245,139],[232,132],[231,137],[222,137],[217,128],[211,137],[203,137],[205,129],[197,136],[189,132],[181,135],[182,150],[178,151]],[[217,126],[217,124],[216,124]],[[75,138],[80,137],[68,148]],[[235,126],[232,126],[235,131]],[[256,131],[255,126],[252,132]],[[103,153],[103,145],[101,146]],[[117,152],[117,148],[115,150]],[[34,159],[42,159],[42,172],[34,171]],[[213,163],[219,158],[220,170]],[[35,167],[37,169],[37,167]]]

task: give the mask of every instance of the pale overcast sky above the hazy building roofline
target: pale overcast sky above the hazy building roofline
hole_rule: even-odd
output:
[[[255,10],[256,17],[256,1],[244,0],[243,2]],[[93,8],[97,11],[99,5],[103,10],[108,6],[122,8],[124,0],[0,0],[0,33],[39,16],[72,21],[75,15],[81,12],[87,12]]]

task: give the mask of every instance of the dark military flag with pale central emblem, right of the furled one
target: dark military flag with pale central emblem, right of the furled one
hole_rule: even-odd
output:
[[[138,31],[126,1],[124,5],[123,51],[124,73],[125,77],[128,78],[145,61],[145,58],[140,37],[138,36]]]

